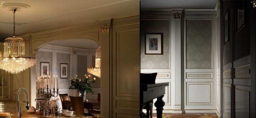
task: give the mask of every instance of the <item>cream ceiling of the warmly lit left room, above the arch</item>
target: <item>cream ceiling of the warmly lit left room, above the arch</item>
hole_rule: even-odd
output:
[[[106,18],[118,18],[139,14],[139,0],[3,1],[5,1],[4,7],[0,8],[0,42],[3,42],[4,38],[13,35],[13,13],[6,10],[8,4],[18,3],[30,6],[28,9],[15,13],[15,22],[17,24],[15,28],[16,35],[73,26]],[[58,44],[71,46],[74,42],[66,40],[60,41]],[[81,45],[77,42],[77,46],[75,47],[79,46]],[[81,48],[86,47],[82,46]]]

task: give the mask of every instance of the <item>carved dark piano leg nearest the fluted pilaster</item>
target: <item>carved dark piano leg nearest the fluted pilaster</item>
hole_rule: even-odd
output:
[[[163,101],[163,97],[164,97],[164,95],[158,97],[155,102],[157,118],[163,118],[163,107],[165,104],[165,102]]]

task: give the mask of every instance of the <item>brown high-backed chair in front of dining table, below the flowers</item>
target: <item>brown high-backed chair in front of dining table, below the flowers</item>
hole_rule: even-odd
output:
[[[72,110],[76,115],[94,116],[92,114],[84,113],[84,100],[83,97],[69,96],[72,104]]]

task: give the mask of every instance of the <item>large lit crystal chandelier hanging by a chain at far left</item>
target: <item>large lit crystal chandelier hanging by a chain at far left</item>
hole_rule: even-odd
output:
[[[12,74],[21,72],[36,64],[36,58],[23,57],[25,55],[25,42],[23,38],[15,36],[15,12],[13,12],[13,36],[4,40],[4,55],[0,57],[0,68]]]

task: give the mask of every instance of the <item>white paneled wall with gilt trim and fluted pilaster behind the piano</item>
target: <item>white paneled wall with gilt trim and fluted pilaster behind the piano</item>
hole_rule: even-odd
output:
[[[216,11],[194,11],[140,14],[140,72],[158,72],[156,82],[170,82],[164,112],[216,112]],[[145,33],[163,33],[163,55],[145,54]]]

